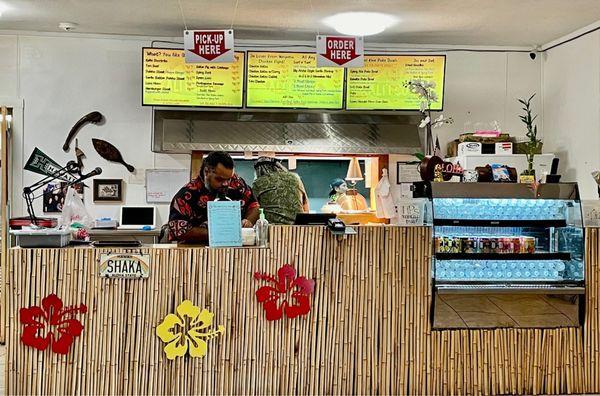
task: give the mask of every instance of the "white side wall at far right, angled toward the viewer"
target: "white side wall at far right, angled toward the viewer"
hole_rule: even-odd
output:
[[[561,160],[564,181],[577,181],[583,199],[597,198],[590,173],[600,170],[600,32],[543,57],[544,151]]]

